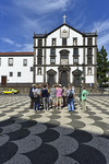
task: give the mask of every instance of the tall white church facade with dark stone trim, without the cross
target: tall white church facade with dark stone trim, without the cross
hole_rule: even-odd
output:
[[[97,82],[97,33],[81,33],[63,23],[48,34],[34,34],[34,83]]]

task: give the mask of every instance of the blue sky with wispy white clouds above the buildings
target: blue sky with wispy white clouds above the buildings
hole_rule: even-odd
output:
[[[109,58],[109,0],[0,0],[0,51],[34,51],[34,32],[51,32],[64,14],[77,31],[97,31]]]

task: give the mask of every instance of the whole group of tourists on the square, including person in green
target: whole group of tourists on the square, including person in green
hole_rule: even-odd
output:
[[[86,95],[88,92],[83,90],[82,92],[82,108],[86,110]],[[48,110],[49,108],[61,109],[68,105],[69,112],[74,112],[74,86],[70,85],[69,89],[62,87],[61,84],[52,85],[50,89],[44,84],[33,84],[29,90],[31,108],[39,112],[41,109]]]

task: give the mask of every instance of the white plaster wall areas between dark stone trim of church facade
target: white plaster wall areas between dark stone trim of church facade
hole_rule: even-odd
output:
[[[68,32],[68,38],[66,38],[66,46],[62,46],[62,37],[61,37],[61,33],[62,31],[66,31]],[[75,66],[73,62],[74,56],[73,56],[73,50],[74,50],[74,46],[73,46],[73,38],[76,37],[77,38],[77,48],[78,48],[78,65]],[[88,38],[92,37],[93,39],[93,45],[90,46],[90,48],[93,49],[92,51],[92,58],[93,58],[93,63],[88,65],[87,63],[87,55],[88,55]],[[50,66],[50,55],[51,55],[51,48],[52,48],[52,38],[56,38],[56,67],[55,66]],[[45,39],[46,39],[46,45],[45,45]],[[85,43],[84,43],[85,40]],[[37,55],[38,55],[38,38],[35,38],[35,43],[36,43],[36,72],[37,72]],[[46,46],[46,50],[44,50],[44,46]],[[66,25],[62,25],[60,28],[57,28],[56,31],[51,32],[50,34],[47,35],[46,38],[43,38],[43,65],[44,62],[44,56],[46,55],[46,82],[48,82],[48,77],[47,77],[47,71],[49,70],[53,70],[57,72],[56,74],[56,82],[59,82],[59,66],[60,66],[60,51],[61,50],[68,50],[69,51],[69,66],[70,66],[70,82],[73,82],[73,71],[75,71],[77,68],[78,70],[83,71],[83,75],[84,75],[84,82],[85,83],[95,83],[95,69],[94,69],[94,65],[96,65],[96,50],[95,47],[96,46],[96,36],[92,36],[92,34],[89,34],[89,36],[84,36],[82,35],[82,33],[70,28]],[[83,68],[83,65],[85,68]],[[41,75],[36,75],[36,82],[43,82],[43,75],[44,75],[44,67],[41,66]],[[92,74],[88,74],[88,68],[92,69]]]

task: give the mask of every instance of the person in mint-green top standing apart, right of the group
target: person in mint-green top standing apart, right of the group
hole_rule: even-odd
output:
[[[83,87],[83,91],[82,91],[82,110],[83,112],[86,112],[86,96],[88,95],[89,93],[86,91],[85,87]]]

